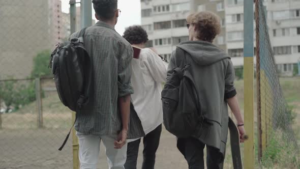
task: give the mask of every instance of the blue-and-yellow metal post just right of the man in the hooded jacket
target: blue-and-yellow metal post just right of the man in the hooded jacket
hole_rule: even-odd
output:
[[[253,1],[244,0],[244,119],[249,139],[244,147],[244,166],[254,168],[254,68]]]

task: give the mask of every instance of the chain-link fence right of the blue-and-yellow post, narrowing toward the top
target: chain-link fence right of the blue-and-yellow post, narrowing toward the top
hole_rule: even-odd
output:
[[[293,110],[280,86],[263,1],[256,1],[258,158],[264,167],[299,167]]]

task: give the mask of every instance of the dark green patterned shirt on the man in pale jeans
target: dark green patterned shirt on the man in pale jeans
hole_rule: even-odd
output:
[[[71,37],[77,37],[77,33]],[[117,100],[133,94],[130,82],[133,49],[112,26],[102,21],[86,29],[84,46],[92,59],[94,78],[89,102],[76,114],[75,129],[82,134],[117,134],[122,129]],[[143,135],[139,119],[130,117],[129,126],[135,126],[130,133],[136,136],[131,134],[129,138]]]

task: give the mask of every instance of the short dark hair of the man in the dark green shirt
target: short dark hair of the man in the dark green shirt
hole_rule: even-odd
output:
[[[117,10],[117,0],[93,0],[92,3],[96,14],[102,20],[112,19]]]

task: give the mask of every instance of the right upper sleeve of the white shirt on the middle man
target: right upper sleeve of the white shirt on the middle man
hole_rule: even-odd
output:
[[[164,61],[151,49],[147,52],[144,64],[156,82],[165,82],[167,78],[167,67]]]

